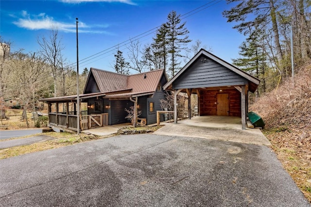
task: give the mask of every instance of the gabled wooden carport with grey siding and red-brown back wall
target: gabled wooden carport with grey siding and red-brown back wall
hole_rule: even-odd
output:
[[[167,84],[174,92],[174,123],[177,123],[177,95],[198,95],[199,115],[240,116],[246,129],[248,92],[254,93],[260,80],[201,49]],[[190,98],[188,102],[191,117]]]

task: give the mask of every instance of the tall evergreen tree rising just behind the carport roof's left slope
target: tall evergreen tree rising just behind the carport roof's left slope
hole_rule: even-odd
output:
[[[169,71],[171,77],[178,71],[179,57],[183,57],[181,51],[187,49],[187,44],[191,42],[187,35],[189,31],[185,27],[186,22],[181,23],[180,15],[177,15],[175,11],[172,11],[168,17],[168,21],[163,25],[166,29],[166,41],[168,47],[168,54],[171,57],[171,65]]]

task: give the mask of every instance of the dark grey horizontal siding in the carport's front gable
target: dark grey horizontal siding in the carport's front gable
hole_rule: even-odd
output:
[[[196,61],[173,82],[173,89],[245,85],[247,80],[208,58]]]

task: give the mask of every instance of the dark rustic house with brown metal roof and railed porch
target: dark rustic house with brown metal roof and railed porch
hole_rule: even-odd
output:
[[[123,75],[91,68],[84,93],[80,101],[87,103],[87,111],[82,111],[80,128],[82,130],[129,122],[125,118],[134,106],[141,111],[138,123],[156,123],[156,111],[161,111],[160,99],[164,99],[163,85],[167,83],[164,70],[154,70],[135,75]],[[77,131],[77,96],[44,98],[49,105],[49,126],[65,131]],[[69,104],[74,104],[72,111]],[[65,110],[59,104],[63,104]],[[54,105],[54,107],[52,107]],[[52,111],[54,109],[54,111]],[[164,116],[161,117],[161,121]]]

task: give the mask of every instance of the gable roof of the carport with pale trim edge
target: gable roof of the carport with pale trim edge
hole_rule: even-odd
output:
[[[196,62],[202,56],[211,59],[212,61],[225,66],[227,69],[231,70],[232,72],[236,73],[237,75],[241,76],[242,78],[246,79],[249,84],[249,91],[254,93],[259,85],[260,80],[255,78],[254,76],[242,71],[241,69],[237,68],[236,66],[225,62],[224,60],[220,59],[219,57],[207,52],[205,49],[200,49],[200,51],[169,81],[167,82],[163,88],[169,89],[172,88],[173,82],[178,79],[190,66]]]

